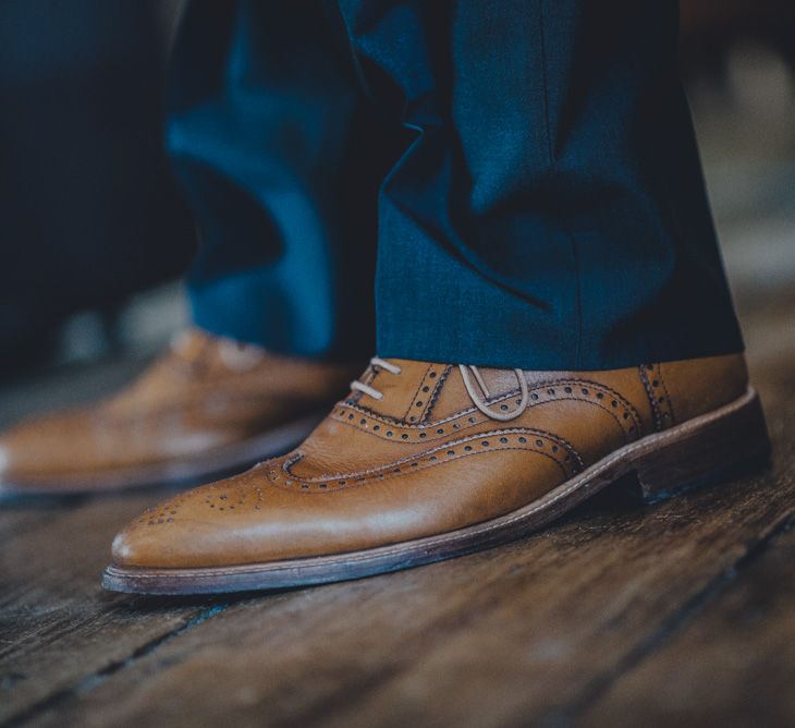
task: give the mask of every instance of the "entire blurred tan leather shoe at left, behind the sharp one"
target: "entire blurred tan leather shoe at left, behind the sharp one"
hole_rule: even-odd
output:
[[[242,470],[301,442],[351,376],[189,330],[115,397],[0,435],[0,494],[195,484]]]

